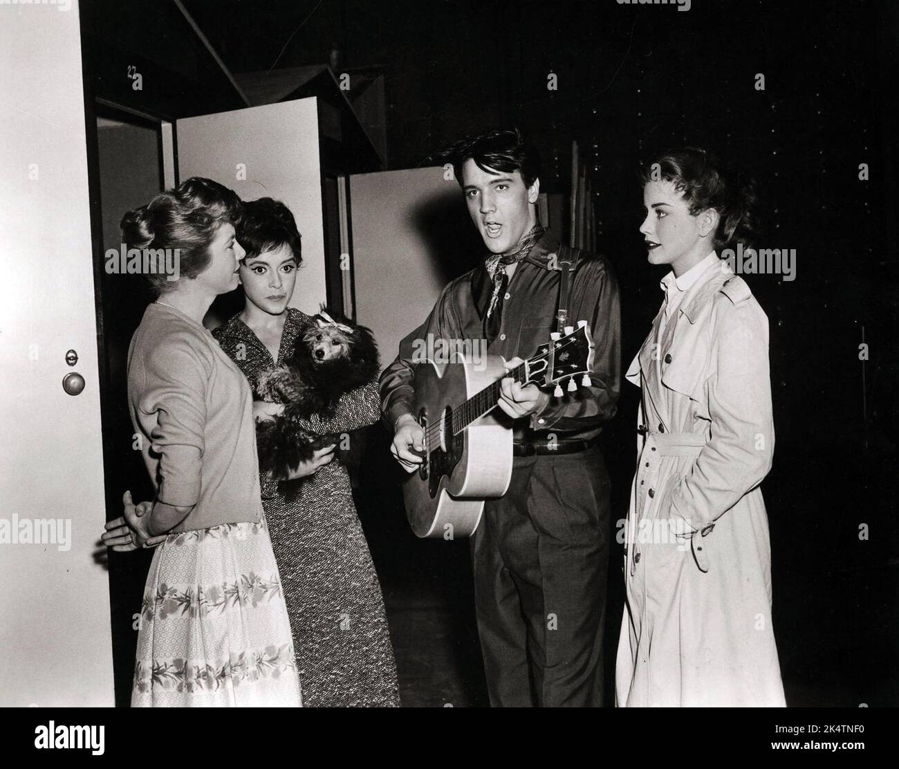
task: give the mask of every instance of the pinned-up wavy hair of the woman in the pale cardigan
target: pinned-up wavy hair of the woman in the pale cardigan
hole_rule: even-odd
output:
[[[174,190],[160,192],[120,221],[129,248],[178,249],[182,278],[195,278],[209,266],[209,245],[223,224],[239,224],[244,205],[236,193],[211,179],[191,176]],[[165,273],[148,273],[156,295],[174,289]]]

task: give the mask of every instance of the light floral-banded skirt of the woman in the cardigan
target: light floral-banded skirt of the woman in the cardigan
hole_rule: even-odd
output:
[[[138,627],[132,707],[302,706],[264,517],[170,534]]]

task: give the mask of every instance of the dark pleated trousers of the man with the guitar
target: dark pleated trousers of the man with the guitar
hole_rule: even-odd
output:
[[[515,457],[472,541],[494,707],[600,707],[609,476],[599,446]]]

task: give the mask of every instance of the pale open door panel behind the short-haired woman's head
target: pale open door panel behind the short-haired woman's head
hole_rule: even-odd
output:
[[[241,199],[270,197],[297,219],[303,265],[291,307],[313,315],[325,301],[325,235],[316,98],[177,121],[178,174],[206,176]]]

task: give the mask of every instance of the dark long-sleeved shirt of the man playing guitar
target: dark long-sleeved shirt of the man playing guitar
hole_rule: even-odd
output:
[[[487,347],[487,353],[502,355],[506,360],[516,355],[528,359],[539,345],[547,344],[550,332],[556,330],[561,271],[553,269],[552,264],[558,266],[557,254],[558,240],[546,234],[518,263],[503,302],[499,335]],[[400,416],[413,414],[413,356],[422,344],[416,344],[416,340],[427,340],[429,334],[434,340],[444,339],[450,344],[465,339],[482,340],[485,291],[489,297],[491,287],[483,264],[449,282],[424,323],[400,343],[399,355],[381,374],[379,384],[381,411],[392,429],[396,429]],[[579,320],[586,320],[590,326],[595,344],[592,386],[579,387],[573,395],[566,392],[562,398],[551,397],[539,414],[516,420],[516,440],[545,440],[548,433],[557,440],[589,440],[615,415],[621,366],[619,288],[604,257],[580,253],[571,284],[568,318],[569,326],[576,326]]]

